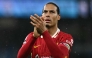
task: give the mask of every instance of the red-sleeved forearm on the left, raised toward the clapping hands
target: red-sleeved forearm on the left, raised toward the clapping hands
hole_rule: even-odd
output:
[[[30,39],[25,44],[23,44],[22,47],[20,48],[17,58],[27,58],[28,55],[30,54],[30,51],[32,50],[35,41],[36,38],[31,36]]]

